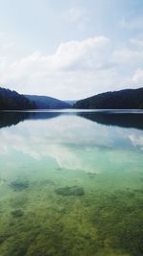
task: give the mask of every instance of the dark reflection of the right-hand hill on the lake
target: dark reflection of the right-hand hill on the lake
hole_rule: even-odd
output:
[[[102,125],[143,129],[143,113],[80,112],[77,115]]]

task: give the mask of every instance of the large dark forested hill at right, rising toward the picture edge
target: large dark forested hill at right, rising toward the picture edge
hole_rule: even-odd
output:
[[[140,109],[143,108],[143,87],[101,93],[76,102],[83,109]]]

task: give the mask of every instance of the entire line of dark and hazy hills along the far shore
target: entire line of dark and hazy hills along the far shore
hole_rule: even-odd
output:
[[[100,93],[80,101],[60,101],[48,96],[21,95],[0,87],[0,110],[24,109],[143,109],[143,87]]]

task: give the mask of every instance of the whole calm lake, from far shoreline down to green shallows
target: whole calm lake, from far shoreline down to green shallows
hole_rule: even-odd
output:
[[[0,113],[0,255],[143,255],[143,112]]]

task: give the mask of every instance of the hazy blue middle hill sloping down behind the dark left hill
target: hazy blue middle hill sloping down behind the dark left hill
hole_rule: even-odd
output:
[[[30,101],[34,102],[38,109],[62,109],[62,108],[71,108],[72,105],[48,97],[48,96],[38,96],[38,95],[25,95]]]

